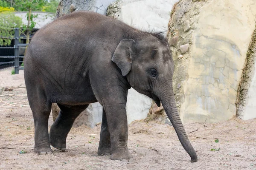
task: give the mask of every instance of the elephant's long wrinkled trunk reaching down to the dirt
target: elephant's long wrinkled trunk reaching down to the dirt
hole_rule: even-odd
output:
[[[172,87],[172,83],[171,83],[171,87]],[[185,129],[180,120],[180,116],[176,107],[173,89],[172,88],[171,89],[160,88],[160,89],[165,89],[162,93],[159,94],[159,99],[162,102],[163,108],[166,111],[168,118],[172,122],[172,126],[174,127],[177,133],[180,143],[182,144],[186,152],[189,154],[191,158],[191,162],[198,161],[195,150],[192,147],[191,143],[189,142],[188,136],[186,135]]]

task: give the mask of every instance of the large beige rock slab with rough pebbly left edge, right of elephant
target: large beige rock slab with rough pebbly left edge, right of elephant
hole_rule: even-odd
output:
[[[255,9],[255,0],[180,0],[175,4],[168,40],[183,122],[218,122],[236,115]]]

